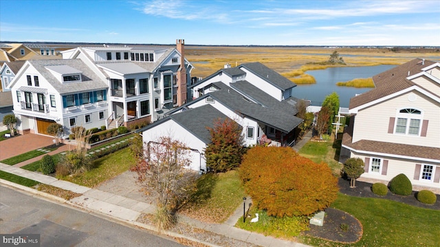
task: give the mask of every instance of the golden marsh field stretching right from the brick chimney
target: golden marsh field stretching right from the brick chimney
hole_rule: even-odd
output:
[[[296,84],[315,83],[314,78],[305,72],[329,67],[313,63],[326,62],[333,51],[338,51],[344,62],[347,63],[345,66],[397,65],[414,58],[440,60],[439,49],[397,49],[397,51],[392,51],[388,48],[351,47],[185,47],[186,58],[195,67],[191,71],[191,75],[197,78],[211,75],[222,69],[226,63],[235,67],[246,62],[261,62]],[[363,81],[362,84],[364,83]],[[345,86],[353,85],[347,84]]]

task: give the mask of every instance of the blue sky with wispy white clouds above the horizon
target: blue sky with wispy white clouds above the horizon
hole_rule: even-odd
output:
[[[1,41],[440,46],[430,1],[0,0]]]

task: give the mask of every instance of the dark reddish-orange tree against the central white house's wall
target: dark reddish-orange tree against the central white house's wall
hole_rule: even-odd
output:
[[[212,142],[205,150],[207,167],[214,172],[227,172],[240,165],[245,152],[242,129],[229,118],[214,121],[214,128],[208,128]]]

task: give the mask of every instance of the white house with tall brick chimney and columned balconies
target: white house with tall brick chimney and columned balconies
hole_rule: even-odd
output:
[[[109,114],[116,126],[150,123],[188,101],[192,64],[184,40],[170,47],[78,47],[62,51],[102,73],[109,87]]]

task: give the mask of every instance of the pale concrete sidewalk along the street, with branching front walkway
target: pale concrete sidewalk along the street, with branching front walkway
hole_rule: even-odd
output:
[[[102,191],[100,189],[91,189],[89,187],[84,187],[67,181],[58,180],[57,178],[54,178],[52,176],[45,176],[43,174],[30,172],[28,170],[21,169],[19,167],[5,165],[3,163],[0,163],[0,170],[4,172],[9,172],[11,174],[15,174],[17,176],[22,176],[24,178],[30,178],[32,180],[36,180],[39,183],[52,185],[54,187],[59,187],[61,189],[73,191],[75,193],[81,193],[82,194],[81,196],[72,198],[71,200],[62,200],[61,198],[60,200],[62,200],[67,204],[74,205],[75,207],[81,207],[88,211],[94,211],[96,213],[107,215],[115,220],[120,220],[122,222],[126,222],[129,224],[133,224],[135,226],[146,228],[151,231],[155,231],[154,226],[136,222],[137,218],[142,213],[153,213],[156,209],[153,204],[148,204],[146,202],[143,202],[142,198],[136,198],[136,199],[127,198],[126,196],[120,196],[115,193]],[[42,193],[41,191],[37,191],[36,189],[31,189],[28,187],[23,188],[23,186],[21,185],[15,185],[14,183],[10,183],[9,181],[5,181],[5,180],[0,180],[0,183],[7,184],[9,186],[19,187],[20,189],[25,189],[32,193],[39,193],[39,194]],[[248,203],[249,202],[250,201],[248,200]],[[297,242],[289,242],[281,239],[276,239],[274,237],[265,236],[259,233],[252,233],[234,227],[234,224],[237,222],[237,220],[239,220],[239,217],[241,217],[242,213],[243,213],[243,204],[241,204],[236,209],[236,211],[233,213],[230,219],[228,219],[224,224],[207,224],[183,215],[179,217],[179,220],[190,226],[194,226],[195,228],[200,228],[205,231],[217,233],[219,235],[225,235],[227,237],[241,240],[243,242],[256,244],[258,246],[267,246],[267,247],[307,246]],[[192,237],[180,235],[179,233],[173,233],[173,232],[165,232],[165,233],[175,237],[184,237],[192,241],[197,240],[197,239],[193,239]],[[201,242],[203,244],[209,244],[203,241]],[[212,244],[209,245],[214,246]]]

